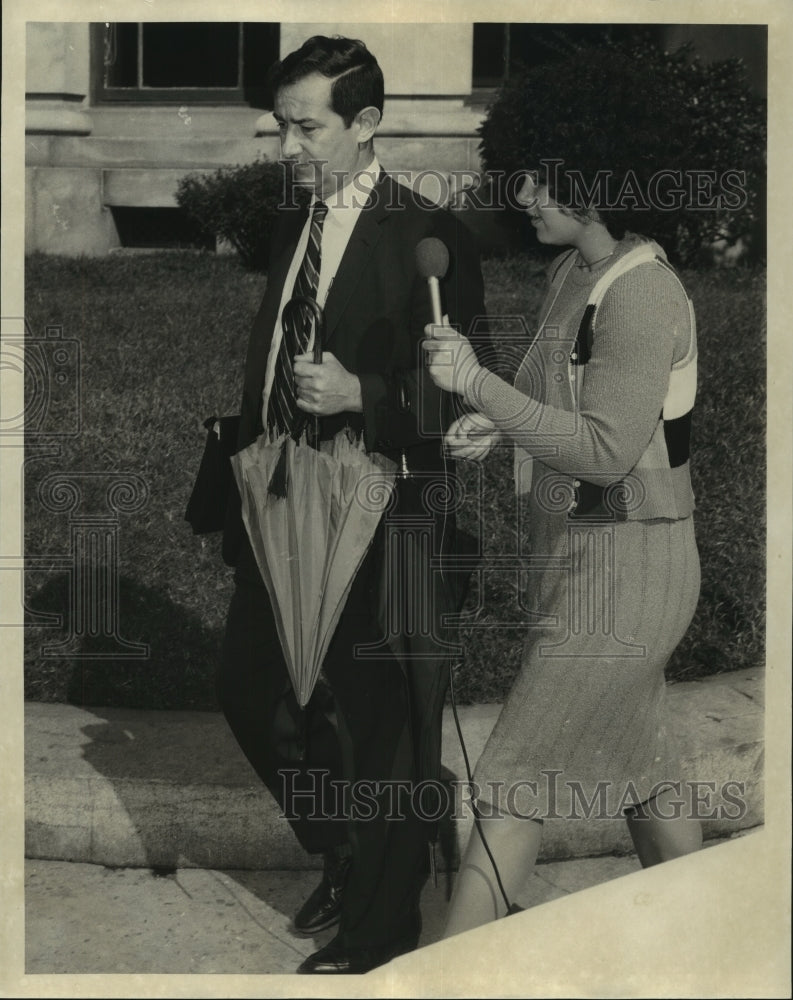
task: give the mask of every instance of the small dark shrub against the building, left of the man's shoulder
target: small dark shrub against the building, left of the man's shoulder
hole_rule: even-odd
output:
[[[179,181],[176,201],[204,235],[230,243],[246,268],[266,271],[284,190],[281,164],[261,157],[188,174]]]

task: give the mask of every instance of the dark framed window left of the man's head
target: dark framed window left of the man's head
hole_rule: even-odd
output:
[[[279,42],[273,22],[98,24],[96,98],[266,107]]]

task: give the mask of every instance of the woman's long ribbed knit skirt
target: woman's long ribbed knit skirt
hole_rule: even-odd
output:
[[[679,780],[664,668],[699,596],[693,519],[529,517],[522,664],[475,769],[480,804],[616,817]]]

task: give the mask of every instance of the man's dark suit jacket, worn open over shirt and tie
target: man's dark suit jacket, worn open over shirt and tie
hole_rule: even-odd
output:
[[[253,323],[245,362],[237,450],[262,433],[262,389],[284,281],[308,214],[285,210],[273,240],[264,297]],[[450,400],[423,368],[420,343],[432,321],[426,279],[416,270],[415,248],[427,236],[447,246],[450,264],[440,282],[444,309],[468,335],[485,329],[478,254],[469,230],[455,217],[382,174],[361,211],[325,303],[324,347],[358,375],[362,413],[323,417],[321,436],[345,426],[363,434],[368,451],[399,461],[412,472],[442,473],[441,430],[450,422]],[[479,338],[481,343],[481,335]],[[238,566],[245,546],[239,494],[232,491],[223,558]]]

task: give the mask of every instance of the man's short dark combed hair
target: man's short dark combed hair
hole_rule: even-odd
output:
[[[374,107],[383,114],[383,72],[363,42],[339,35],[333,38],[314,35],[273,66],[271,93],[274,96],[281,87],[313,73],[333,80],[331,110],[344,120],[346,128],[363,108]]]

